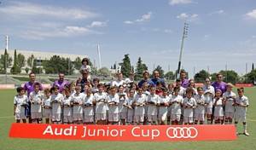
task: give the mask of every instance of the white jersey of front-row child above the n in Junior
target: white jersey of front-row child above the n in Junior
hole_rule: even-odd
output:
[[[108,111],[108,96],[105,92],[96,93],[94,95],[94,100],[96,101],[96,113],[107,113]]]

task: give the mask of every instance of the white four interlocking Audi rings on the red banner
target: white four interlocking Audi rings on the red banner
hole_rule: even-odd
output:
[[[198,135],[198,131],[195,129],[195,127],[170,127],[166,130],[166,135],[172,139],[193,139]]]

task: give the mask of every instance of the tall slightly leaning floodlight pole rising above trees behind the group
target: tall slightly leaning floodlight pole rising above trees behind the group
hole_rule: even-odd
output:
[[[182,60],[182,55],[183,55],[184,38],[187,38],[188,29],[189,29],[189,24],[185,22],[184,27],[183,27],[183,38],[181,41],[179,59],[178,59],[178,64],[177,64],[177,72],[176,72],[176,76],[175,76],[176,78],[179,78],[179,74],[180,74],[181,60]]]

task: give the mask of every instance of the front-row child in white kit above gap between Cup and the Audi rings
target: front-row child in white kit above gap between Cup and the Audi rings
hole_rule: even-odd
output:
[[[158,120],[159,124],[166,124],[166,116],[168,112],[169,103],[171,101],[171,97],[168,95],[168,91],[166,88],[162,89],[162,95],[160,96],[160,101],[158,103],[159,113]]]

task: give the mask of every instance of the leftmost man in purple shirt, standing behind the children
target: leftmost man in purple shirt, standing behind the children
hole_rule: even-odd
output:
[[[34,72],[29,73],[29,81],[26,82],[23,88],[26,90],[27,97],[29,97],[30,93],[34,90],[33,85],[35,83],[39,83],[36,81],[36,74]],[[40,84],[40,90],[43,90],[42,84]],[[31,119],[31,103],[28,102],[28,107],[25,110],[26,117],[28,118],[28,122],[32,123]]]

